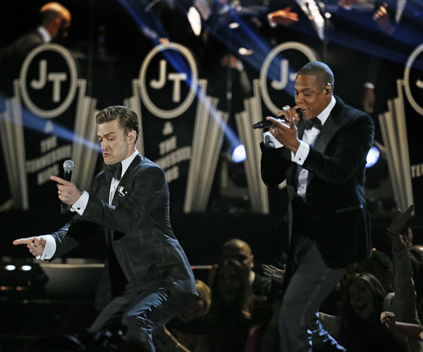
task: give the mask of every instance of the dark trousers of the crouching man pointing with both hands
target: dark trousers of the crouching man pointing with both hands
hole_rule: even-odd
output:
[[[102,310],[89,332],[122,329],[128,345],[142,352],[154,352],[152,330],[178,315],[191,299],[192,295],[168,290],[126,289]]]

